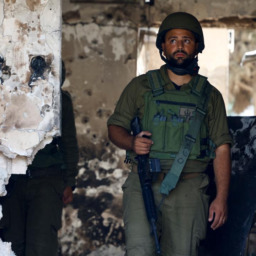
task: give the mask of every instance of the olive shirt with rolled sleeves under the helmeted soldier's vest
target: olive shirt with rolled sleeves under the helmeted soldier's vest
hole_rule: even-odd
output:
[[[164,89],[174,90],[175,86],[167,74],[166,65],[161,66],[160,74],[165,81]],[[181,91],[190,90],[193,87],[196,76],[188,84],[181,86]],[[134,116],[143,118],[145,102],[144,94],[151,91],[146,75],[140,75],[134,78],[123,90],[117,106],[112,116],[108,119],[107,126],[110,124],[121,126],[131,132],[130,122]],[[233,146],[233,139],[229,134],[226,118],[225,104],[220,92],[213,87],[208,103],[205,124],[209,132],[209,138],[218,146],[229,143]],[[149,131],[150,132],[150,131]],[[162,169],[170,169],[174,160],[161,160]],[[188,160],[184,170],[185,172],[195,172],[206,170],[208,162],[199,162],[197,160]]]

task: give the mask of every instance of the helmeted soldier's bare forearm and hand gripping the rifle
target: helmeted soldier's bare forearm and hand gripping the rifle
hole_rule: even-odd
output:
[[[121,126],[108,126],[108,138],[114,145],[121,149],[133,150],[138,155],[148,154],[153,144],[152,140],[142,137],[143,135],[150,136],[151,133],[142,131],[136,137],[133,137]]]

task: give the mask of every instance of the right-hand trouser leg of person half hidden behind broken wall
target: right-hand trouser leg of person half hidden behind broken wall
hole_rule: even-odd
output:
[[[26,256],[57,256],[62,177],[32,178],[28,185]]]

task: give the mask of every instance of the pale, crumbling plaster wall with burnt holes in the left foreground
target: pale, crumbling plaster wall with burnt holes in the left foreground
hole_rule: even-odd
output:
[[[60,14],[61,1],[0,0],[0,196],[60,134]]]

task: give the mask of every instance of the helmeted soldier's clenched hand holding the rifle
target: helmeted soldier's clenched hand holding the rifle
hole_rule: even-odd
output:
[[[151,136],[149,131],[142,131],[137,134],[132,143],[132,150],[137,155],[146,155],[149,153],[151,146],[153,145],[153,141],[147,138],[142,137],[143,135]]]

